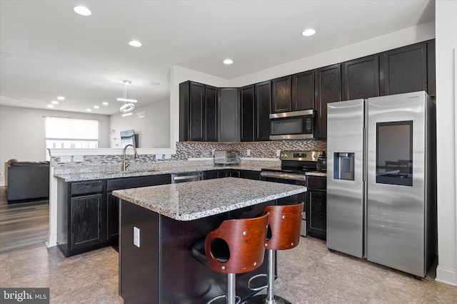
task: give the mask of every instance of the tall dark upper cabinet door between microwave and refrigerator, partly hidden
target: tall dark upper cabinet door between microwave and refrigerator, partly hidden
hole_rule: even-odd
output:
[[[316,70],[318,138],[327,137],[327,103],[341,101],[341,63]]]

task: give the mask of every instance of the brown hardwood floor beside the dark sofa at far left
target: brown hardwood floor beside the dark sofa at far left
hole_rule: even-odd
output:
[[[0,253],[43,246],[49,231],[49,200],[8,204],[0,187]]]

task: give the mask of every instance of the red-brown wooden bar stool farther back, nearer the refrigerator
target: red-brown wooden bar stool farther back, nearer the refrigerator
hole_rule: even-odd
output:
[[[266,304],[291,304],[288,300],[274,295],[274,266],[277,250],[286,250],[298,246],[300,241],[301,213],[303,212],[303,202],[296,205],[267,206],[263,213],[269,213],[269,229],[266,239],[266,249],[268,250],[268,271],[266,274],[253,276],[248,281],[251,290],[262,290],[266,288],[265,295],[256,295],[246,301],[246,304],[266,303]],[[270,235],[271,234],[271,235]],[[268,278],[268,285],[260,288],[252,288],[251,281],[260,276]]]

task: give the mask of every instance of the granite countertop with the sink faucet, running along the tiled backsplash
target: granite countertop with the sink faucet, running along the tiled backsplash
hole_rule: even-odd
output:
[[[142,177],[146,175],[156,174],[172,174],[179,172],[195,172],[195,171],[209,171],[219,169],[236,169],[236,170],[251,170],[261,171],[265,166],[253,166],[248,164],[232,164],[232,165],[201,165],[201,166],[184,166],[184,167],[157,167],[146,169],[131,169],[127,168],[125,172],[120,170],[117,172],[76,172],[69,174],[54,174],[54,177],[61,179],[64,182],[81,182],[95,179],[116,179],[120,177]]]

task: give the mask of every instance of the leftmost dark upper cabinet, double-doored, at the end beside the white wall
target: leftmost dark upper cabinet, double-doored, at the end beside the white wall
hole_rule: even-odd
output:
[[[179,140],[217,141],[217,88],[179,84]]]

